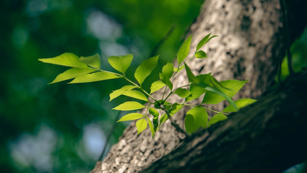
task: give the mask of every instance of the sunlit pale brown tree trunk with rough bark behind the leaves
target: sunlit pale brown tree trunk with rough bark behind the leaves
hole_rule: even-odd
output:
[[[274,81],[277,69],[275,62],[282,46],[280,28],[278,0],[206,0],[196,23],[191,26],[193,38],[189,56],[192,56],[197,43],[208,33],[212,32],[220,37],[213,38],[204,46],[203,50],[208,58],[195,58],[188,66],[195,75],[212,72],[219,81],[249,79],[234,100],[257,98]],[[184,71],[173,79],[174,88],[186,84]],[[156,92],[154,96],[159,99],[161,93]],[[168,101],[183,102],[175,96]],[[200,101],[192,101],[192,104],[199,104]],[[224,104],[210,108],[222,110]],[[188,108],[182,109],[173,116],[182,128],[187,110]],[[139,171],[172,151],[181,144],[184,137],[166,121],[151,140],[149,129],[137,135],[135,123],[132,122],[119,142],[111,148],[103,162],[97,163],[92,172]]]

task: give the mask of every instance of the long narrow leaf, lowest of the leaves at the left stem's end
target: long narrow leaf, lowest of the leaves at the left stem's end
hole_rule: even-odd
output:
[[[116,78],[120,78],[120,76],[117,76],[113,73],[96,72],[96,73],[78,76],[68,84],[103,81],[103,80],[116,79]]]

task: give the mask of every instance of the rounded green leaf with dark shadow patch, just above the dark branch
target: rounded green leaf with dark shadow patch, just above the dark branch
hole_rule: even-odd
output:
[[[200,127],[205,128],[208,122],[208,113],[202,107],[190,109],[185,116],[185,130],[189,133],[195,132]]]

